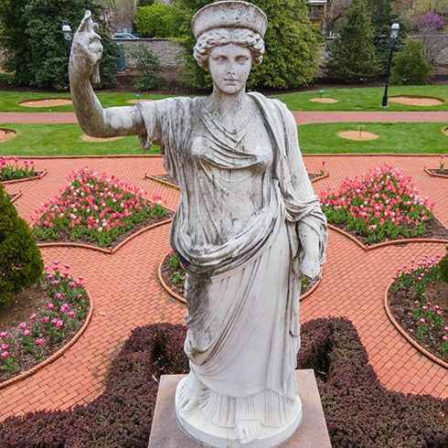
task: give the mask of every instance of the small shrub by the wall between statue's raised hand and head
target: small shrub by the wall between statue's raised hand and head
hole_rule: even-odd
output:
[[[133,79],[133,87],[137,91],[154,91],[165,85],[165,80],[157,76],[161,70],[159,60],[149,48],[139,44],[130,54],[135,59],[137,75]]]

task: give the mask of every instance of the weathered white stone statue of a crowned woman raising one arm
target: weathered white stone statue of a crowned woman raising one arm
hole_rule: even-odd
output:
[[[213,79],[207,98],[103,109],[89,82],[99,79],[102,49],[90,12],[73,40],[71,97],[85,133],[160,144],[181,187],[170,240],[186,270],[190,373],[176,389],[177,421],[211,446],[270,447],[302,418],[300,281],[320,274],[326,220],[292,113],[245,91],[264,51],[264,13],[223,1],[192,26],[195,57]]]

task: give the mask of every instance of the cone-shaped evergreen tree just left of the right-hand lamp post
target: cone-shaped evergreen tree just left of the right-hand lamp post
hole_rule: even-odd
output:
[[[366,0],[353,0],[337,27],[336,38],[330,42],[328,50],[326,68],[331,78],[357,82],[377,77],[379,61]]]

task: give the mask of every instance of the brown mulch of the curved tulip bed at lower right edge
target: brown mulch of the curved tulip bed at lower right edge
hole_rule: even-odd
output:
[[[444,322],[448,321],[448,284],[442,281],[437,283],[428,283],[426,286],[426,299],[431,303],[431,307],[434,305],[440,306],[442,312],[442,318]],[[417,331],[419,329],[419,323],[416,322],[413,315],[414,305],[408,304],[408,293],[403,289],[400,289],[398,293],[394,294],[392,289],[389,289],[388,302],[390,313],[395,320],[401,326],[401,328],[411,338],[425,350],[429,351],[434,357],[442,359],[444,362],[448,362],[448,355],[442,357],[439,351],[439,343],[442,340],[435,340],[431,334],[424,334],[422,339],[417,339]]]

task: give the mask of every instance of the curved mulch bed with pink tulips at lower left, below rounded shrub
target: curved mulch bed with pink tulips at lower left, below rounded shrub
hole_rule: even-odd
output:
[[[0,311],[0,382],[33,368],[76,335],[90,308],[82,281],[55,261],[37,286]]]

